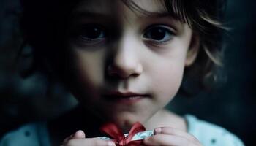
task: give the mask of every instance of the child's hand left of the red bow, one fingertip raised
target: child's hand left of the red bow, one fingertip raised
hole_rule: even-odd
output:
[[[101,140],[95,138],[86,138],[86,134],[79,130],[76,131],[75,134],[70,135],[66,139],[61,146],[115,146],[115,143],[110,140]]]

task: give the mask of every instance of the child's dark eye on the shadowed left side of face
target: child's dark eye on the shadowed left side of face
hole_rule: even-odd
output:
[[[78,30],[75,32],[75,38],[83,44],[95,45],[105,41],[106,32],[102,26],[97,24],[86,24],[78,27]]]

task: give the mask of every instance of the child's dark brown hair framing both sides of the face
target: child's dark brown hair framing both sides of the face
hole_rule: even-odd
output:
[[[65,50],[61,37],[67,25],[67,16],[80,0],[23,0],[21,27],[26,43],[34,47],[39,66],[49,61],[55,69],[63,70]],[[122,0],[132,10],[147,13],[132,0]],[[222,26],[225,0],[164,0],[167,12],[173,18],[188,23],[200,37],[200,50],[192,66],[185,71],[185,79],[195,80],[200,87],[208,87],[218,80],[217,69],[222,67]],[[60,55],[61,53],[61,55]],[[47,67],[43,70],[51,70]],[[208,82],[211,82],[210,84]]]

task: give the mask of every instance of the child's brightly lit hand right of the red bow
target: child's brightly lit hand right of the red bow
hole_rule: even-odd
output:
[[[161,127],[154,129],[154,136],[143,140],[147,146],[202,146],[200,142],[191,134],[177,128]]]

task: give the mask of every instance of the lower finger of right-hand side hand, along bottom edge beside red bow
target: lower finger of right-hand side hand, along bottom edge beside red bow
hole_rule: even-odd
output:
[[[148,137],[143,140],[143,143],[148,146],[158,146],[158,145],[168,145],[168,146],[184,146],[194,144],[184,137],[179,137],[175,135],[157,134],[152,137]]]

